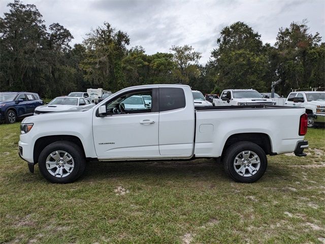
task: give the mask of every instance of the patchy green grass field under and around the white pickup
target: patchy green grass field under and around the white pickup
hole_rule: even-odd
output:
[[[325,243],[325,131],[308,156],[269,157],[254,184],[214,160],[89,163],[47,182],[18,157],[19,123],[0,126],[0,243]]]

